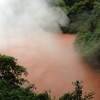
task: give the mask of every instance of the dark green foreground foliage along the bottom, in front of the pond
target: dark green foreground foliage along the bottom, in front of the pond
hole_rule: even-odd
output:
[[[14,57],[0,55],[0,100],[54,100],[49,91],[35,93],[36,87],[21,77],[27,74],[26,68],[18,65]],[[82,97],[81,82],[76,81],[73,85],[75,90],[65,93],[59,100],[90,100],[93,98],[94,93],[92,92]]]

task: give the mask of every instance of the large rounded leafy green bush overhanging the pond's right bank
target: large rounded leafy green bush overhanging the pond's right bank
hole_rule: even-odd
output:
[[[93,2],[90,17],[79,27],[75,47],[93,66],[100,67],[100,1]],[[92,48],[91,48],[92,47]]]

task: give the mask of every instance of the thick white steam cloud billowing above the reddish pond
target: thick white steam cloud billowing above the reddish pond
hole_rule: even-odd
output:
[[[61,33],[59,25],[68,24],[68,17],[54,1],[0,0],[0,36]]]

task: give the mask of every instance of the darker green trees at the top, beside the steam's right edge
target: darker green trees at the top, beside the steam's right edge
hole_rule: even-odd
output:
[[[58,0],[59,7],[66,9],[70,19],[68,26],[62,26],[63,33],[77,33],[84,22],[90,17],[94,0]],[[65,3],[61,3],[65,2]]]

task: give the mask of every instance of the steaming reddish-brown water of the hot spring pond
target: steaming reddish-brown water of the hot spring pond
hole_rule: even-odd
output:
[[[27,78],[39,92],[51,89],[59,97],[74,89],[72,82],[82,80],[84,91],[95,92],[93,100],[99,100],[100,75],[75,52],[74,39],[75,35],[4,38],[0,52],[27,67]]]

